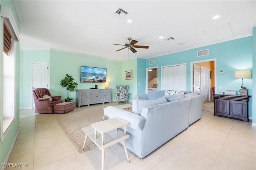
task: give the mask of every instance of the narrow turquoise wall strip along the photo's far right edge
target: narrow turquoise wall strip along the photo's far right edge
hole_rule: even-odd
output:
[[[256,126],[256,27],[252,29],[252,123]]]

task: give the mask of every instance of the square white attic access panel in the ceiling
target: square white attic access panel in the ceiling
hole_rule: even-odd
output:
[[[234,38],[234,33],[231,29],[231,23],[223,23],[208,29],[203,30],[213,42]]]

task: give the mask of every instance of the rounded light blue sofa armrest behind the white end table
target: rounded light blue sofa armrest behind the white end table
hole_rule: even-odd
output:
[[[104,113],[109,118],[119,117],[121,119],[124,119],[130,122],[130,124],[128,125],[129,127],[131,127],[132,129],[140,130],[140,131],[143,130],[143,127],[146,123],[145,117],[142,117],[136,113],[132,113],[130,111],[119,109],[113,106],[106,107],[104,109]]]

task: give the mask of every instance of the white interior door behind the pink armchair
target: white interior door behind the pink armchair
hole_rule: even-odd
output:
[[[48,63],[32,63],[32,90],[36,88],[48,88],[49,82]],[[32,108],[35,108],[32,94]]]

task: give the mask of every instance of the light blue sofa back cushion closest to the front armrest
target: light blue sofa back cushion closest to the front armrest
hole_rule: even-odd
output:
[[[133,113],[137,113],[137,114],[141,114],[142,109],[144,107],[148,107],[148,106],[154,106],[157,104],[162,104],[162,103],[167,103],[167,99],[165,97],[156,99],[156,100],[140,100],[140,99],[136,99],[132,102],[132,112]]]

